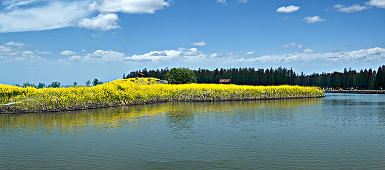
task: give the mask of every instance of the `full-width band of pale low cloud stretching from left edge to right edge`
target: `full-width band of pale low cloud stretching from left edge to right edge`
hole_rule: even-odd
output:
[[[81,65],[95,67],[96,64],[100,66],[118,67],[130,66],[133,69],[140,69],[143,67],[140,63],[145,63],[147,68],[160,67],[189,67],[197,69],[201,68],[215,68],[215,67],[279,67],[290,66],[297,69],[314,70],[312,67],[319,66],[321,71],[325,68],[335,67],[357,67],[362,64],[378,67],[378,63],[385,61],[384,48],[362,49],[357,51],[344,52],[330,52],[318,53],[315,50],[305,49],[302,53],[289,53],[284,55],[262,55],[253,56],[246,55],[250,52],[236,54],[233,52],[227,53],[212,53],[204,54],[196,48],[178,49],[178,50],[164,50],[164,51],[150,51],[143,54],[134,54],[126,56],[122,52],[112,50],[97,50],[84,55],[69,55],[67,58],[60,60],[48,60],[37,56],[37,52],[23,50],[22,47],[12,47],[0,45],[0,64],[7,64],[14,62],[15,64],[23,63],[50,63],[58,65],[71,65],[78,67]],[[312,53],[309,53],[312,52]],[[359,64],[357,64],[359,63]],[[303,66],[303,68],[298,68]],[[305,70],[304,70],[305,71]]]

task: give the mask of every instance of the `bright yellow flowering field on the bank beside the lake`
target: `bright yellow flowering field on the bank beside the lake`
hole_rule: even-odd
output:
[[[58,112],[169,101],[235,101],[324,97],[318,87],[163,85],[155,78],[118,79],[93,87],[35,89],[0,85],[0,113]],[[9,104],[11,103],[11,104]]]

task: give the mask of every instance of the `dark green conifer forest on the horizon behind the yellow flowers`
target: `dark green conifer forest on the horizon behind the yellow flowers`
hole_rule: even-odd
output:
[[[155,77],[165,79],[165,74],[169,70],[143,70],[132,71],[123,78],[134,77]],[[305,85],[319,86],[322,88],[344,88],[344,89],[373,89],[383,90],[385,86],[385,65],[376,70],[365,69],[357,72],[356,70],[344,69],[343,72],[333,73],[313,73],[310,75],[297,74],[291,68],[220,68],[215,70],[201,69],[193,70],[197,82],[205,84],[218,84],[220,79],[231,79],[231,84],[235,85]],[[143,75],[142,75],[143,74]]]

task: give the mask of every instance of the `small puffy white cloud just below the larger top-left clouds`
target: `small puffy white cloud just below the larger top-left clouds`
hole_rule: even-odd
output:
[[[97,17],[83,18],[79,21],[78,27],[90,30],[107,31],[120,28],[117,14],[99,14]]]

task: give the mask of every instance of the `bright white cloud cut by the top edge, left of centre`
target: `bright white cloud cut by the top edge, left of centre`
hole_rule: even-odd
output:
[[[164,0],[99,0],[89,5],[91,9],[96,9],[103,13],[149,13],[153,14],[156,10],[161,10],[169,6],[169,1]]]

